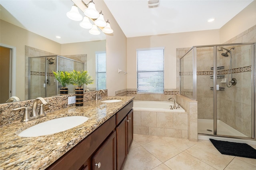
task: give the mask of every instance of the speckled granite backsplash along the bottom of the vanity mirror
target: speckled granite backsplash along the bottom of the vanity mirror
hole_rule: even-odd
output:
[[[102,93],[102,97],[108,96],[108,90],[104,90],[105,93]],[[95,99],[96,91],[90,91],[84,93],[84,105],[85,102]],[[46,101],[49,105],[44,106],[45,113],[49,113],[52,111],[58,111],[59,109],[71,107],[75,104],[68,105],[68,97],[75,96],[75,94],[63,95],[63,96],[55,96],[55,97],[46,97]],[[12,111],[12,109],[16,109],[19,107],[29,107],[30,112],[32,110],[32,103],[34,100],[26,100],[20,102],[12,102],[12,103],[4,103],[0,104],[0,126],[6,125],[8,123],[12,123],[13,121],[20,121],[23,115],[23,111]],[[39,107],[38,107],[39,108]]]

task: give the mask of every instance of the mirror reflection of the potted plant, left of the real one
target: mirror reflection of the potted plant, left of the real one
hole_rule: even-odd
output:
[[[68,72],[67,71],[52,71],[56,80],[62,85],[60,88],[60,95],[67,95],[68,94],[68,87],[67,85],[70,84],[70,79],[68,77]]]

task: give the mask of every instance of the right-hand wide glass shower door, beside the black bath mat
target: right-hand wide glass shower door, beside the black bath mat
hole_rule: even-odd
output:
[[[253,55],[252,44],[216,46],[214,130],[219,136],[254,137]]]

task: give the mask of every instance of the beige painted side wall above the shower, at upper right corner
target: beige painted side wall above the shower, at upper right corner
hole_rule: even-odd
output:
[[[256,0],[220,28],[220,43],[225,43],[254,25],[256,25]]]

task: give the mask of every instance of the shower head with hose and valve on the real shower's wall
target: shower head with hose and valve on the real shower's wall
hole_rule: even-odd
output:
[[[225,53],[221,53],[221,55],[223,56],[223,57],[228,57],[229,55],[228,55],[228,53],[230,53],[230,62],[229,62],[229,69],[228,69],[228,79],[229,79],[229,75],[230,75],[230,77],[231,77],[231,81],[228,81],[228,79],[227,79],[227,82],[226,82],[226,85],[227,85],[227,87],[231,87],[232,85],[236,85],[236,78],[233,78],[232,77],[232,51],[231,51],[231,49],[235,49],[235,47],[232,47],[232,48],[230,48],[230,49],[226,49],[226,48],[224,48],[224,47],[220,47],[219,49],[218,49],[218,51],[223,51],[223,49],[224,50],[226,50],[226,52]]]

